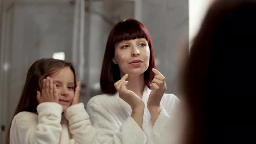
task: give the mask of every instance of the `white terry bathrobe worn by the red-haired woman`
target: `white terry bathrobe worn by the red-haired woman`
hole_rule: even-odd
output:
[[[100,144],[162,144],[167,123],[173,118],[174,108],[179,103],[173,94],[164,94],[161,100],[161,112],[154,126],[147,108],[151,90],[145,86],[142,100],[145,103],[143,130],[131,118],[131,106],[115,95],[97,95],[87,104],[87,112],[96,129]]]

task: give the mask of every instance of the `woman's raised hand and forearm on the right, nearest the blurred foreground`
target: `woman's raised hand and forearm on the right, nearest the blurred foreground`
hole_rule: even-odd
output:
[[[156,69],[152,69],[152,71],[154,72],[155,76],[149,85],[151,88],[153,88],[153,90],[149,94],[147,107],[154,123],[160,114],[160,101],[164,95],[164,92],[167,90],[167,87],[165,83],[165,77],[161,74],[161,72]]]

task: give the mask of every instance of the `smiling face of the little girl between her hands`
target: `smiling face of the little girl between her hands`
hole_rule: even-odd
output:
[[[75,95],[74,73],[69,67],[65,67],[49,77],[53,79],[53,85],[56,85],[59,104],[62,105],[63,111],[66,111]]]

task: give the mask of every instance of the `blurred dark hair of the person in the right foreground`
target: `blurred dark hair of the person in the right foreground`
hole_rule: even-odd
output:
[[[186,144],[248,143],[255,134],[256,0],[216,0],[184,66]]]

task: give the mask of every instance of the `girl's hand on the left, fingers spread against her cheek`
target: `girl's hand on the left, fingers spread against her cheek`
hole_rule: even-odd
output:
[[[43,102],[59,103],[59,95],[56,91],[56,85],[53,85],[53,79],[50,77],[43,79],[41,92],[36,92],[36,98],[39,104]]]

